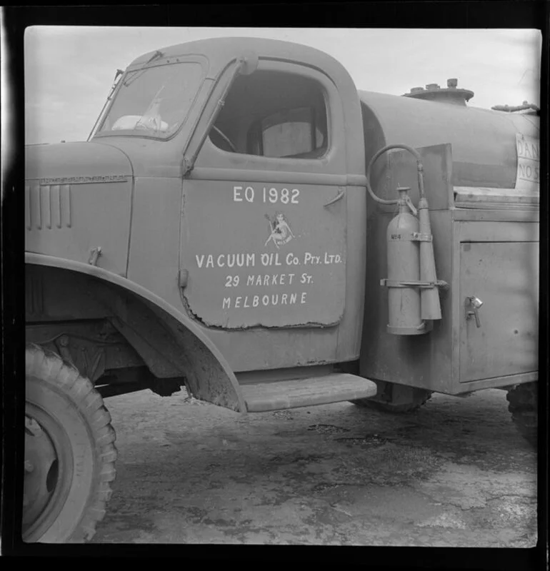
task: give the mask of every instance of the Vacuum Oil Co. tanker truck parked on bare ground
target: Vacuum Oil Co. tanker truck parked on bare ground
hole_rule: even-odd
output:
[[[472,96],[206,39],[117,71],[87,141],[27,146],[24,541],[94,535],[105,400],[137,390],[246,414],[501,388],[534,442],[539,118]]]

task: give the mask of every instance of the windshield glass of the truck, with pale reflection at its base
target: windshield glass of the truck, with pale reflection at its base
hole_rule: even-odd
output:
[[[96,136],[171,136],[184,122],[202,77],[202,66],[196,62],[132,71],[124,77]]]

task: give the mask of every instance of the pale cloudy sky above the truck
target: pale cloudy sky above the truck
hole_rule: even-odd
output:
[[[457,78],[469,105],[540,106],[541,34],[526,29],[122,28],[26,29],[25,142],[85,141],[116,69],[185,41],[254,36],[306,44],[344,65],[364,91],[402,95]]]

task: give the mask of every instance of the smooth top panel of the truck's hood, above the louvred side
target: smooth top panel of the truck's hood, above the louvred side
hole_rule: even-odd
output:
[[[129,158],[113,146],[101,143],[56,143],[25,148],[25,178],[90,178],[109,181],[109,177],[132,176]]]

